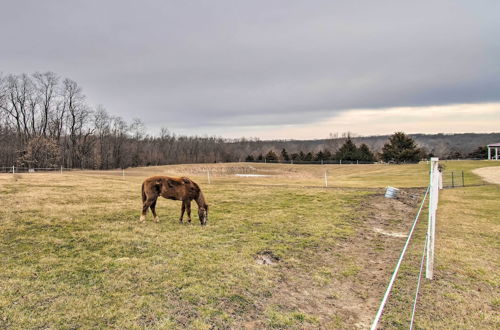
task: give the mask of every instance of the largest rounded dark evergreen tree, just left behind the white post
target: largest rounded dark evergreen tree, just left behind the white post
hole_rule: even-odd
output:
[[[420,149],[410,136],[396,132],[382,148],[381,157],[385,162],[415,163],[420,160]]]

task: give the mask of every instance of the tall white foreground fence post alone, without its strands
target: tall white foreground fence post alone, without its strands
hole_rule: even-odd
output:
[[[434,275],[434,241],[436,235],[436,210],[439,199],[439,158],[431,158],[431,171],[429,180],[429,224],[427,227],[427,258],[425,277],[432,280]]]

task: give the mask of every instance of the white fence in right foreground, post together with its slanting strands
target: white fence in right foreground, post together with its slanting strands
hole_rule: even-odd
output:
[[[435,234],[436,234],[436,211],[438,208],[438,202],[439,202],[439,189],[442,189],[443,186],[443,180],[442,180],[442,175],[439,170],[439,159],[438,158],[431,158],[430,162],[431,168],[430,168],[430,175],[429,175],[429,186],[427,187],[427,190],[425,192],[424,198],[422,199],[422,203],[420,204],[420,208],[417,212],[417,215],[415,216],[415,220],[413,221],[413,225],[410,229],[410,232],[408,234],[408,238],[406,239],[405,245],[403,247],[403,250],[401,251],[401,254],[399,256],[398,262],[396,264],[396,267],[394,268],[394,271],[392,273],[391,279],[389,281],[389,284],[387,285],[387,289],[384,293],[384,297],[382,298],[382,302],[380,303],[379,309],[377,310],[377,314],[375,315],[375,318],[372,322],[371,325],[371,330],[377,329],[378,323],[380,321],[380,318],[382,317],[382,313],[384,311],[385,304],[387,303],[387,300],[389,299],[389,295],[392,291],[392,287],[394,285],[394,282],[396,280],[399,268],[401,267],[401,263],[403,261],[403,258],[405,256],[406,250],[410,244],[411,238],[413,236],[413,231],[415,230],[415,227],[418,223],[418,220],[420,218],[421,211],[424,207],[425,201],[427,199],[427,196],[429,196],[429,201],[428,201],[428,208],[429,208],[429,214],[428,214],[428,223],[427,223],[427,235],[425,237],[425,243],[424,243],[424,251],[422,253],[422,259],[420,263],[420,273],[418,275],[418,281],[415,289],[415,298],[413,301],[413,308],[412,308],[412,314],[411,314],[411,320],[410,320],[410,329],[413,329],[413,323],[415,320],[415,312],[416,312],[416,306],[417,306],[417,299],[418,299],[418,293],[420,290],[420,282],[422,278],[422,270],[423,270],[423,264],[424,260],[426,261],[426,268],[425,268],[425,277],[429,280],[432,280],[433,274],[434,274],[434,241],[435,241]]]

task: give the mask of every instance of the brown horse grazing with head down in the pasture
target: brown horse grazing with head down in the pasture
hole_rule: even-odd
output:
[[[154,220],[156,222],[160,221],[156,215],[156,200],[159,196],[182,201],[181,217],[179,218],[181,223],[184,211],[187,211],[188,222],[191,222],[191,201],[195,200],[196,204],[198,204],[198,217],[201,225],[206,225],[208,221],[208,205],[205,202],[205,197],[196,182],[186,177],[153,176],[144,180],[142,183],[142,214],[139,221],[146,220],[148,208],[151,208]]]

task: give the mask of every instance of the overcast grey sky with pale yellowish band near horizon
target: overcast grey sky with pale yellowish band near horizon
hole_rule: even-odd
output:
[[[69,77],[151,132],[500,131],[497,0],[2,0],[0,35],[0,72]]]

